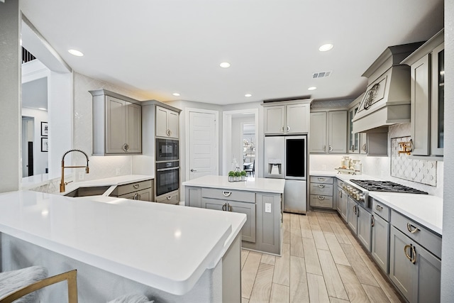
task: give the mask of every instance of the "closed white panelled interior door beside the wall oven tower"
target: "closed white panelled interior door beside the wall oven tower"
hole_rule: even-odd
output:
[[[218,175],[216,114],[189,111],[189,180]]]

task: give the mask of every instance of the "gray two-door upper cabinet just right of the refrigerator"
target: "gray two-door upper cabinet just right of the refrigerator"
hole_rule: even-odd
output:
[[[347,111],[311,112],[309,153],[346,153]]]

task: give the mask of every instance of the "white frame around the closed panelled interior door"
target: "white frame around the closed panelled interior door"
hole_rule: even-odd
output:
[[[212,111],[211,109],[196,109],[196,108],[190,108],[188,107],[186,109],[185,113],[185,141],[186,141],[186,152],[185,152],[185,158],[186,158],[186,165],[184,165],[184,175],[186,176],[186,180],[189,180],[190,174],[189,174],[189,161],[191,160],[191,155],[190,151],[191,148],[189,148],[189,135],[191,133],[190,128],[189,128],[189,114],[190,113],[201,113],[201,114],[214,114],[214,141],[216,142],[216,147],[215,147],[215,157],[216,157],[216,175],[219,175],[219,111]],[[180,159],[181,161],[181,159]]]

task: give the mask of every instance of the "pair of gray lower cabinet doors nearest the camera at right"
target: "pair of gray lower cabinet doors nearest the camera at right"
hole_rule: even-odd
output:
[[[440,302],[441,260],[394,226],[389,277],[409,302]]]

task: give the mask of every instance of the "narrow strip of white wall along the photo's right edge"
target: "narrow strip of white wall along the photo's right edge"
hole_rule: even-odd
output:
[[[452,302],[454,294],[454,1],[445,0],[445,197],[443,203],[443,247],[441,253],[441,302]],[[448,119],[447,119],[448,118]]]

